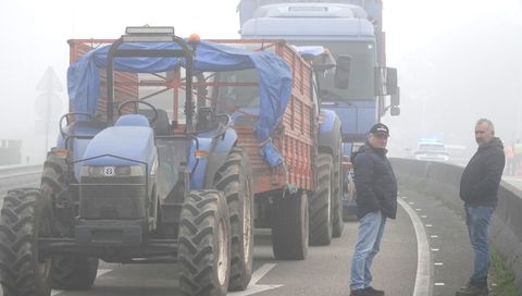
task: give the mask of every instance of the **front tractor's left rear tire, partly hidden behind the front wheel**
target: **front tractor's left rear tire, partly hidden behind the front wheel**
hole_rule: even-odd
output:
[[[72,199],[65,184],[65,160],[50,153],[44,164],[41,176],[41,194],[47,200],[60,200],[72,207]],[[63,208],[63,207],[62,207]],[[73,237],[74,212],[72,208],[63,208],[66,217],[55,219],[54,226],[61,237]],[[98,273],[98,258],[63,255],[52,260],[52,287],[58,289],[88,289],[92,286]]]

